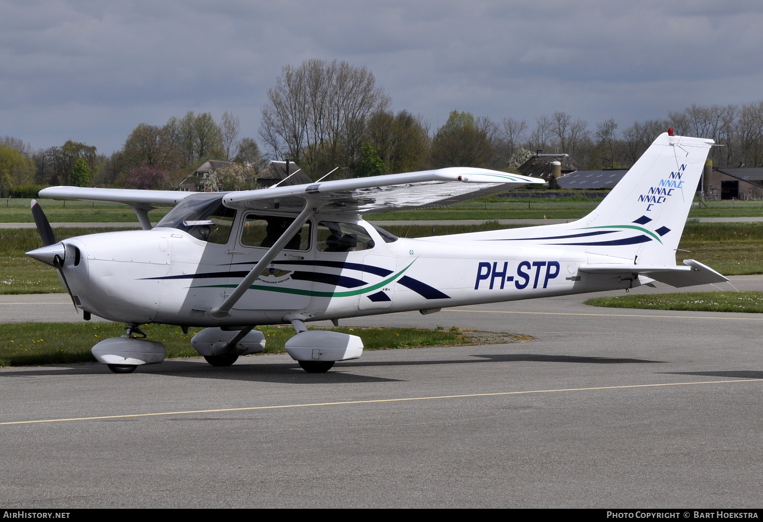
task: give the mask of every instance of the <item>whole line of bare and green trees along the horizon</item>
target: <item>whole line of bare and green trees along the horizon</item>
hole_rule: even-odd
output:
[[[716,140],[723,147],[711,150],[715,166],[763,166],[763,101],[691,105],[625,128],[614,119],[591,127],[563,111],[531,123],[452,111],[433,128],[390,105],[390,95],[365,67],[306,60],[285,66],[268,90],[259,129],[264,151],[254,138],[239,137],[239,119],[229,112],[218,121],[209,112],[188,111],[163,125],[141,123],[111,156],[73,140],[32,150],[6,136],[0,138],[0,195],[26,196],[40,185],[175,188],[207,159],[240,166],[214,178],[221,189],[246,188],[243,180],[267,159],[290,159],[312,179],[336,167],[331,179],[447,166],[516,172],[538,150],[568,153],[584,169],[626,168],[668,127]]]

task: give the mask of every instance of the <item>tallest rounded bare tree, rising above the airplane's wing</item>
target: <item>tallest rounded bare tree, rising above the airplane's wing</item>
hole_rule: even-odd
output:
[[[307,60],[285,66],[268,89],[260,137],[277,157],[298,161],[308,174],[353,168],[371,114],[389,97],[365,67]]]

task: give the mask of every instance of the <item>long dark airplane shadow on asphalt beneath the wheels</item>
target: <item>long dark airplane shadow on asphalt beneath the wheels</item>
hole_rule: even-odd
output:
[[[251,382],[278,382],[283,384],[341,384],[362,382],[401,382],[402,379],[387,379],[370,375],[357,375],[353,368],[370,366],[429,366],[441,364],[472,364],[484,362],[566,362],[588,364],[652,364],[655,362],[647,359],[615,359],[610,357],[582,357],[564,355],[544,355],[534,353],[510,353],[478,355],[470,354],[474,359],[446,359],[446,360],[418,360],[418,361],[358,361],[337,363],[330,372],[307,373],[297,366],[296,362],[268,364],[256,362],[246,364],[243,359],[238,364],[227,368],[214,368],[205,363],[169,360],[161,365],[143,366],[138,369],[139,373],[152,375],[166,375],[168,377],[186,377],[192,379],[224,379],[234,381]],[[259,358],[258,358],[259,359]],[[102,365],[82,364],[66,366],[61,369],[43,369],[23,372],[2,372],[0,377],[9,378],[34,378],[47,375],[106,375],[109,379],[130,379],[130,375],[114,375]]]

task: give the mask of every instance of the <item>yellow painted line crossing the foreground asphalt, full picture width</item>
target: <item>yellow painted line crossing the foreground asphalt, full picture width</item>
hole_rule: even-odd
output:
[[[435,401],[435,400],[453,399],[453,398],[497,397],[500,395],[529,395],[533,393],[562,393],[565,391],[623,390],[623,389],[629,389],[629,388],[659,388],[664,386],[734,384],[737,382],[763,382],[763,379],[739,379],[736,381],[665,382],[662,384],[650,384],[650,385],[597,386],[594,388],[560,388],[555,390],[500,391],[496,393],[470,393],[470,394],[464,394],[464,395],[436,395],[433,397],[370,399],[366,401],[314,402],[314,403],[307,403],[307,404],[280,404],[277,406],[252,406],[249,408],[221,408],[216,410],[163,411],[159,413],[149,413],[149,414],[103,415],[101,417],[72,417],[67,419],[46,419],[46,420],[16,420],[14,422],[0,422],[0,426],[6,426],[9,424],[42,424],[42,423],[51,423],[51,422],[71,422],[73,420],[127,419],[127,418],[134,418],[134,417],[161,417],[166,415],[221,413],[224,411],[281,410],[285,408],[316,408],[319,406],[340,406],[343,404],[375,404],[380,402]]]

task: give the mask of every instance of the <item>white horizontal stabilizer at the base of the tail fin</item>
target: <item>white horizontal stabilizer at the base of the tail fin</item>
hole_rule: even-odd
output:
[[[676,288],[694,285],[708,285],[716,282],[726,282],[729,279],[710,266],[703,265],[694,259],[684,259],[686,266],[649,266],[649,265],[618,265],[613,263],[581,265],[578,270],[587,274],[622,274],[645,275],[655,281],[664,282]]]

